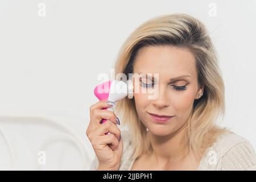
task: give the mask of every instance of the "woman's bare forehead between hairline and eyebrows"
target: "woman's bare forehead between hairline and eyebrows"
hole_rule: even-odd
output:
[[[187,48],[147,46],[139,49],[134,73],[159,73],[171,77],[196,76],[195,57]]]

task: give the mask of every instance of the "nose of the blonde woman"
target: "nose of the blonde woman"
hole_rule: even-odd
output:
[[[152,104],[155,107],[158,107],[158,109],[168,107],[169,106],[169,100],[168,100],[168,92],[166,88],[162,87],[158,90],[158,97],[156,97],[155,100],[153,100]]]

